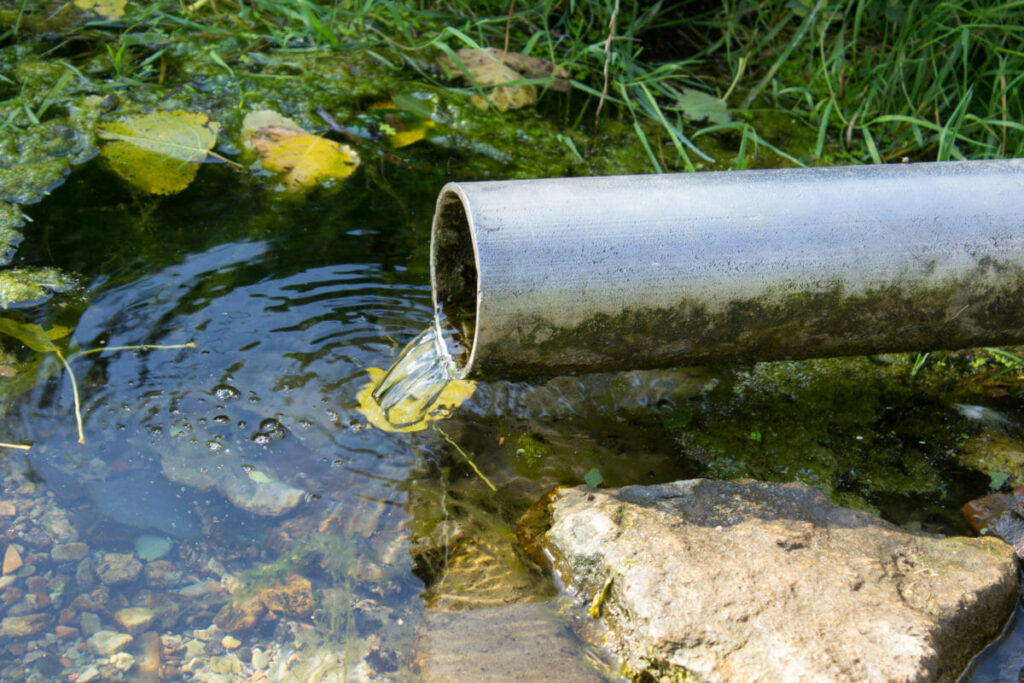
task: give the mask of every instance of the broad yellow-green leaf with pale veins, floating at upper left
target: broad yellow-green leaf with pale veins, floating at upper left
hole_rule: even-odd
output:
[[[197,112],[125,117],[99,129],[100,154],[122,178],[154,195],[188,186],[217,141],[220,124]]]

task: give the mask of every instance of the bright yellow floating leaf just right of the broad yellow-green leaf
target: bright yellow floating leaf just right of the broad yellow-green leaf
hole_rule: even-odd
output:
[[[261,128],[250,141],[263,168],[287,173],[285,182],[293,191],[325,180],[341,180],[359,165],[359,156],[347,144],[292,128]]]

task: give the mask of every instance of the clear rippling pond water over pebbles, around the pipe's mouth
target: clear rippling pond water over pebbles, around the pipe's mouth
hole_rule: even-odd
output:
[[[45,628],[26,622],[0,650],[0,678],[117,678],[133,665],[136,680],[458,679],[508,666],[616,677],[584,610],[519,552],[515,523],[595,471],[608,485],[750,474],[708,454],[751,373],[494,382],[427,429],[374,428],[357,410],[368,369],[387,368],[432,318],[427,244],[444,180],[384,168],[287,201],[209,167],[151,201],[85,169],[32,208],[19,258],[80,273],[85,294],[31,319],[74,327],[83,349],[196,346],[74,360],[81,444],[56,358],[11,399],[4,439],[33,447],[0,468],[25,563],[0,595],[6,616],[41,614]],[[937,483],[867,496],[840,477],[833,493],[963,532],[955,510],[987,477],[924,445],[916,422],[972,427],[920,396],[883,416],[894,400],[829,433],[854,452],[865,435],[876,449],[914,443]],[[743,428],[735,442],[767,447],[781,429]],[[805,465],[790,476],[819,476]]]

